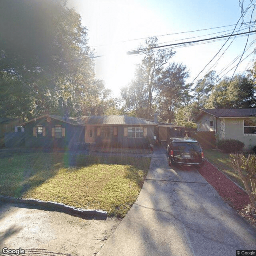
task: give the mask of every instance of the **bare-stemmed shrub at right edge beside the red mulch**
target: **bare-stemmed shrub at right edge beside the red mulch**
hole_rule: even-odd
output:
[[[256,210],[256,156],[249,155],[246,158],[243,154],[231,154],[232,164],[235,166],[242,179],[248,196]],[[246,174],[242,172],[242,168],[245,169]]]

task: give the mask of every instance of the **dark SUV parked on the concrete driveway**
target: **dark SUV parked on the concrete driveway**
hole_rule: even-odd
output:
[[[169,165],[194,165],[199,168],[204,165],[204,152],[199,142],[189,137],[170,137],[167,142]]]

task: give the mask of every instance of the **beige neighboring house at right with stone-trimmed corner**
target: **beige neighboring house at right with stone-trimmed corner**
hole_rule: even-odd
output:
[[[198,132],[216,132],[217,140],[240,140],[244,150],[256,145],[256,108],[203,109],[194,121]]]

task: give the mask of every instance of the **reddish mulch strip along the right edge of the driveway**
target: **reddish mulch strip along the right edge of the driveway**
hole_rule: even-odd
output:
[[[256,219],[244,210],[251,202],[248,194],[242,188],[237,186],[208,161],[205,161],[204,168],[198,171],[215,188],[225,202],[237,210],[242,217],[256,228]]]

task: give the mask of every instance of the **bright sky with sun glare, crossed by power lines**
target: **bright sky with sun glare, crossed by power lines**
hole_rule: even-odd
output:
[[[244,6],[247,7],[248,4],[249,0],[244,0]],[[95,56],[103,55],[94,59],[96,78],[105,81],[105,86],[112,90],[114,97],[120,96],[120,88],[126,86],[133,78],[136,64],[143,58],[141,54],[127,55],[126,52],[135,50],[140,44],[144,45],[145,38],[158,36],[158,43],[164,45],[231,34],[235,26],[228,25],[236,24],[241,16],[238,0],[68,0],[67,6],[73,7],[81,15],[82,25],[88,28],[89,45],[95,49]],[[244,16],[245,22],[250,21],[251,13],[252,8]],[[256,11],[252,16],[254,20],[255,13]],[[237,28],[240,23],[241,20]],[[248,26],[243,25],[243,28],[240,32],[248,31]],[[184,33],[194,30],[202,31]],[[256,30],[255,26],[251,27],[251,30]],[[255,34],[249,36],[247,46],[252,44],[243,58],[256,47],[255,42],[253,43],[255,39]],[[230,44],[230,38],[203,72],[201,70],[226,40],[173,48],[176,53],[170,62],[186,65],[190,72],[187,83],[193,80],[196,82],[210,70],[215,70],[222,77],[238,63],[239,58],[231,64],[243,52],[246,40],[247,36],[241,36]],[[240,63],[236,73],[250,68],[253,60],[255,54],[252,53]],[[226,67],[228,68],[223,71]],[[233,72],[234,69],[226,76],[231,77]]]

